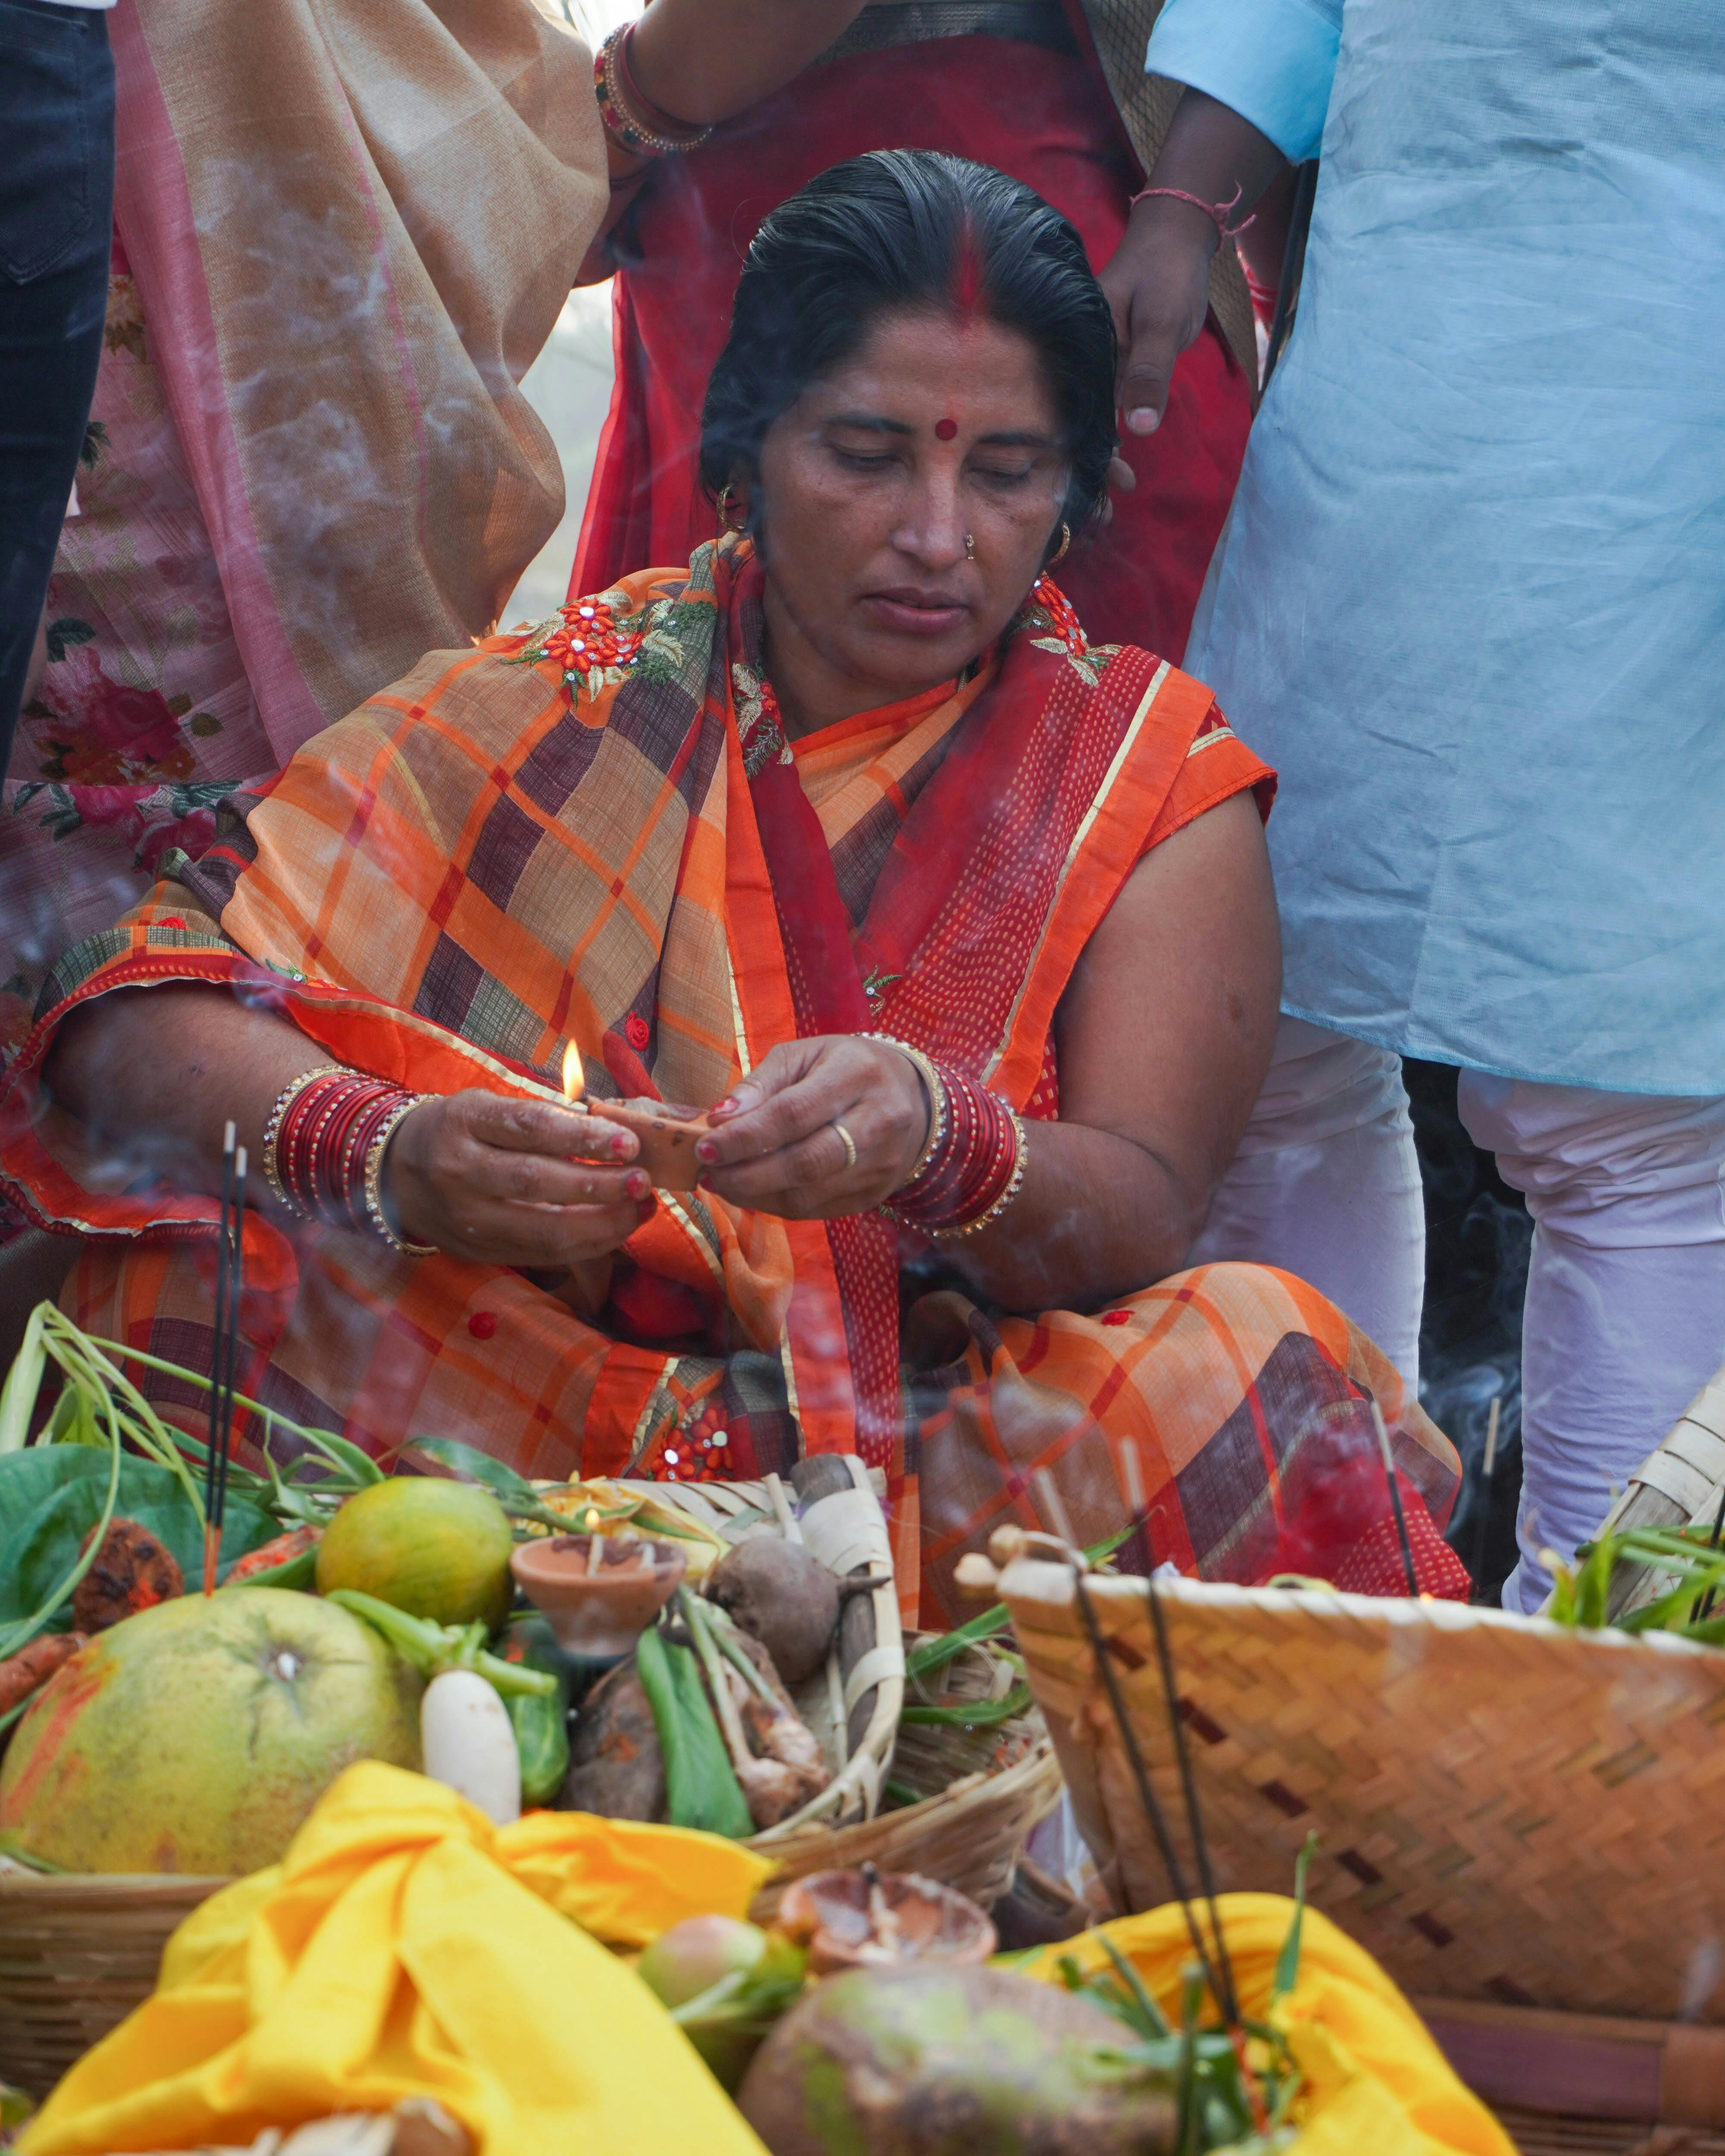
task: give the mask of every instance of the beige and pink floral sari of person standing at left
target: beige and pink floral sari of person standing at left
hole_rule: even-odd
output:
[[[591,54],[533,0],[127,0],[114,67],[88,464],[0,808],[0,1059],[220,796],[494,625],[563,513],[518,384],[606,201]],[[75,1253],[19,1227],[0,1201],[0,1367]]]

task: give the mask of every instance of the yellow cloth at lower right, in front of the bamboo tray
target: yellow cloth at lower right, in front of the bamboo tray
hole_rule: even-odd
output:
[[[1264,2020],[1294,1904],[1272,1893],[1227,1893],[1218,1908],[1240,2009]],[[1102,1930],[1156,2003],[1177,2018],[1179,1973],[1192,1960],[1179,1904],[1121,1917]],[[1065,1953],[1085,1971],[1108,1966],[1095,1932],[1016,1966],[1057,1984]],[[1307,1910],[1305,1919],[1300,1981],[1276,2014],[1309,2083],[1302,2130],[1287,2156],[1516,2156],[1516,2145],[1455,2078],[1402,1992],[1317,1910]]]

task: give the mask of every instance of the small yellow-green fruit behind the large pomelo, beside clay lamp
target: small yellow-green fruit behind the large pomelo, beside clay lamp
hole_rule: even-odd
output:
[[[317,1546],[317,1591],[356,1587],[436,1623],[483,1619],[496,1630],[515,1583],[509,1516],[489,1490],[431,1475],[395,1475],[358,1490]]]

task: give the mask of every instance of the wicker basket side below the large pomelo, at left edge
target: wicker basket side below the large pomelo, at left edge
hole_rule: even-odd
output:
[[[168,1934],[224,1884],[0,1876],[0,2081],[45,2096],[155,1990]]]

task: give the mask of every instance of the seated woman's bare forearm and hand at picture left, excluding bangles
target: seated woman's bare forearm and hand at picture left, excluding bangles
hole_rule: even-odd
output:
[[[164,985],[73,1011],[45,1078],[93,1151],[181,1190],[222,1188],[233,1121],[252,1203],[278,1212],[261,1175],[270,1110],[285,1084],[328,1061],[289,1020],[220,987]],[[384,1194],[408,1242],[552,1270],[615,1250],[651,1214],[647,1177],[630,1166],[638,1149],[632,1132],[554,1102],[451,1093],[397,1125]]]

